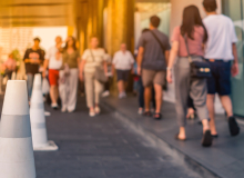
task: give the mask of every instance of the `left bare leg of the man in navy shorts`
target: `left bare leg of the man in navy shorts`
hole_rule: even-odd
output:
[[[207,95],[206,97],[206,106],[210,112],[210,130],[212,135],[217,135],[216,126],[215,126],[215,110],[214,110],[214,95]]]

